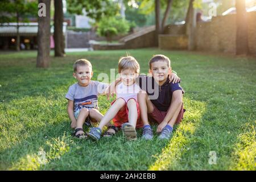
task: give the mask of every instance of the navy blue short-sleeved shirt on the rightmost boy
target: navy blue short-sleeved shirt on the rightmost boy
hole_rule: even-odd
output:
[[[153,77],[146,75],[139,75],[137,82],[139,82],[141,89],[147,92],[152,104],[160,111],[167,111],[169,109],[172,102],[172,93],[175,90],[182,90],[184,94],[184,90],[181,88],[180,84],[169,83],[168,78],[162,86],[159,86]],[[158,88],[156,88],[156,86],[158,86]]]

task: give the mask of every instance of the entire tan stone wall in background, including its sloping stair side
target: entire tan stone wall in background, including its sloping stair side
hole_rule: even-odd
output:
[[[256,55],[256,12],[247,13],[248,46]],[[123,43],[93,46],[95,49],[133,49],[156,47],[155,27],[144,28],[135,34],[120,39]],[[185,25],[167,25],[164,34],[159,35],[159,48],[187,49],[188,37]],[[198,51],[236,53],[236,15],[213,17],[211,22],[198,22],[196,27],[196,49]]]

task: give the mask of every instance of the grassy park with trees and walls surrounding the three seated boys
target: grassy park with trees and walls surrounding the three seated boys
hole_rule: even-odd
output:
[[[256,1],[4,0],[0,16],[0,169],[256,169]],[[142,73],[170,57],[183,122],[168,142],[72,137],[73,62],[90,60],[97,80],[127,53]]]

